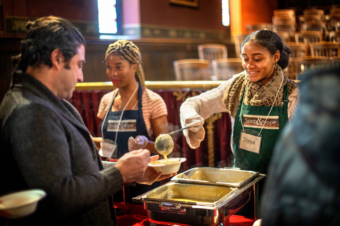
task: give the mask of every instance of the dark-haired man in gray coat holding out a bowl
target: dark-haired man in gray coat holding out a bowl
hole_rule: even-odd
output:
[[[46,191],[36,212],[9,225],[115,225],[112,194],[124,183],[151,184],[174,174],[156,173],[148,150],[122,156],[103,169],[79,113],[66,100],[83,81],[85,40],[65,19],[27,23],[10,90],[0,106],[0,195]]]

